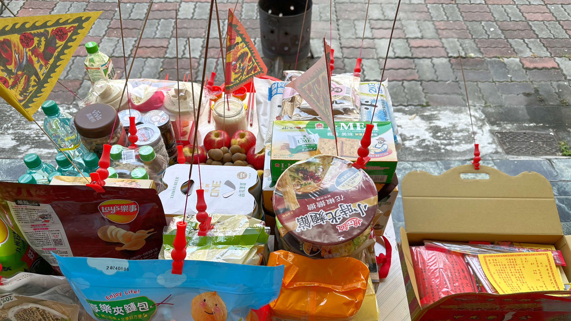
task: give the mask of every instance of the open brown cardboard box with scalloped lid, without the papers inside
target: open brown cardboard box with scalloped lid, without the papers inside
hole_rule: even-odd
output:
[[[461,174],[488,174],[489,179],[463,179]],[[494,295],[448,295],[424,308],[412,267],[409,246],[423,239],[512,241],[553,244],[571,263],[571,236],[564,236],[553,191],[536,172],[509,176],[487,166],[452,168],[440,176],[409,172],[401,181],[404,220],[400,258],[412,321],[428,320],[571,320],[571,298],[546,292]],[[563,267],[571,276],[571,265]],[[549,294],[571,294],[550,291]]]

